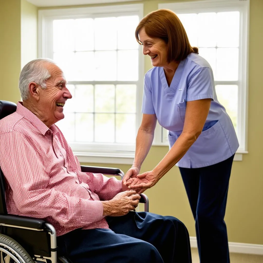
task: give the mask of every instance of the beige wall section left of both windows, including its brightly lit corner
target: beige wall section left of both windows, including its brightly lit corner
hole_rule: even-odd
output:
[[[26,0],[0,0],[0,99],[20,100],[21,66],[37,58],[37,7]]]

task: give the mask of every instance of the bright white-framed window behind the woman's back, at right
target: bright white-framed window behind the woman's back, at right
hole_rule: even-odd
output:
[[[249,1],[194,1],[159,4],[181,20],[190,44],[199,48],[213,69],[216,94],[226,108],[246,152],[247,36]],[[156,144],[167,144],[164,129],[156,130]]]

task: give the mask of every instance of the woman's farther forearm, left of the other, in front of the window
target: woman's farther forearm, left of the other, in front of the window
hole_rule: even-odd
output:
[[[138,134],[136,137],[136,150],[135,150],[135,158],[133,161],[133,166],[141,169],[141,165],[146,158],[151,145],[153,143],[154,131],[145,131],[143,129],[138,130]]]

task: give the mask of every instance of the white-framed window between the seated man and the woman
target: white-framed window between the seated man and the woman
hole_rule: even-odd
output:
[[[57,125],[80,161],[134,158],[144,70],[134,33],[142,7],[39,11],[39,57],[58,63],[72,94]]]

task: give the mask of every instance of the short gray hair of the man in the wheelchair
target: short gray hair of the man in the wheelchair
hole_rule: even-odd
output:
[[[52,59],[37,58],[28,62],[21,70],[18,88],[20,90],[22,100],[28,99],[28,85],[30,82],[35,82],[40,85],[42,89],[47,88],[46,80],[51,77],[51,74],[48,69],[45,68],[46,63],[55,64]]]

